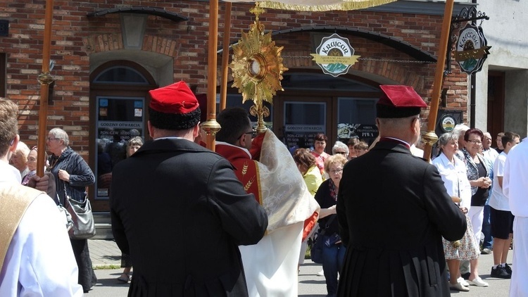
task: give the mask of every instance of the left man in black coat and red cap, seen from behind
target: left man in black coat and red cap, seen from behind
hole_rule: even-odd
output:
[[[193,142],[200,108],[187,84],[150,94],[154,140],[111,185],[115,241],[134,265],[128,296],[248,296],[238,245],[263,237],[265,210],[225,158]]]

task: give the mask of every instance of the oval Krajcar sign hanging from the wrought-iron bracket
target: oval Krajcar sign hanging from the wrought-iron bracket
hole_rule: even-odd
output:
[[[455,61],[467,74],[479,72],[489,55],[488,41],[482,27],[468,23],[458,34]]]

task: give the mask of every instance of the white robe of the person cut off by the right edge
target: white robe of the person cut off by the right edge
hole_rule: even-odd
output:
[[[504,165],[503,193],[515,215],[515,253],[510,297],[528,296],[528,138],[508,153]]]

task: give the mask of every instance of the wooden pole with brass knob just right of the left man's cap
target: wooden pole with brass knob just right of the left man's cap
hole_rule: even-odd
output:
[[[220,124],[216,121],[216,65],[218,50],[218,0],[209,1],[209,46],[207,71],[207,121],[202,129],[206,132],[207,148],[215,150],[216,133],[220,131]]]

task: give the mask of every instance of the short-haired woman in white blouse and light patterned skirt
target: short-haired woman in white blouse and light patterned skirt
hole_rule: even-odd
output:
[[[479,256],[479,245],[475,239],[467,212],[471,207],[471,186],[467,179],[463,160],[455,156],[458,151],[458,137],[451,133],[442,134],[438,140],[440,155],[432,163],[436,166],[447,193],[466,215],[467,230],[460,241],[444,242],[444,253],[449,267],[450,288],[469,291],[469,284],[460,276],[460,260],[474,260]]]

